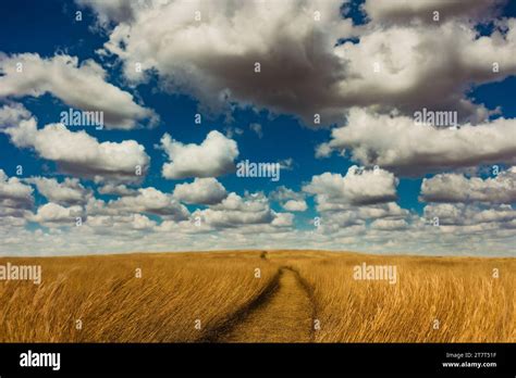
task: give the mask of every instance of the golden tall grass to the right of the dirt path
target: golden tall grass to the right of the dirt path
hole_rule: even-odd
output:
[[[320,322],[316,342],[516,341],[516,259],[278,257],[309,288]],[[395,265],[397,282],[355,280],[353,267],[364,262]]]

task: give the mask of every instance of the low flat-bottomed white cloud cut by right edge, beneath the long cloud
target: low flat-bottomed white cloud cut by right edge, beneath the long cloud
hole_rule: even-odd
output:
[[[421,200],[426,202],[516,202],[516,167],[496,177],[467,178],[460,174],[440,174],[426,178],[421,185]]]

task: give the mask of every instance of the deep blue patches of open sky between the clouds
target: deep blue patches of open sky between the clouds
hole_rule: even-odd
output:
[[[348,16],[352,16],[355,24],[366,22],[359,11],[359,4],[354,3],[349,8]],[[83,21],[75,21],[76,5],[72,1],[59,0],[17,0],[2,4],[2,23],[0,23],[0,51],[3,53],[37,52],[41,56],[53,56],[56,53],[66,53],[78,56],[79,62],[86,59],[94,59],[98,63],[105,63],[95,50],[102,47],[107,40],[107,35],[96,30],[90,26],[95,24],[95,17],[88,10],[83,11]],[[343,13],[345,10],[343,9]],[[504,9],[504,16],[516,15],[516,1],[509,1]],[[111,61],[112,62],[112,59]],[[103,64],[102,64],[103,65]],[[106,65],[103,65],[106,68]],[[123,90],[127,90],[136,98],[143,99],[146,108],[153,109],[161,117],[160,125],[155,129],[137,129],[131,131],[123,130],[95,130],[88,128],[87,133],[96,137],[99,141],[121,141],[124,139],[135,139],[144,144],[146,152],[150,155],[151,165],[148,176],[143,186],[153,186],[164,192],[173,190],[177,182],[188,180],[164,180],[161,177],[162,164],[167,161],[163,151],[155,149],[162,135],[169,133],[174,139],[184,143],[200,143],[206,135],[218,129],[224,133],[228,127],[238,127],[244,130],[243,135],[234,135],[239,150],[237,160],[249,159],[256,162],[277,162],[292,158],[294,160],[292,171],[281,171],[279,182],[262,179],[242,179],[235,175],[228,175],[219,178],[229,191],[236,191],[243,194],[245,190],[251,192],[262,190],[266,193],[277,186],[283,185],[296,191],[304,182],[311,179],[314,175],[324,172],[345,174],[347,167],[354,163],[346,158],[333,154],[329,159],[315,159],[315,147],[328,141],[330,129],[314,130],[303,127],[299,122],[291,115],[278,115],[271,117],[266,111],[257,114],[251,110],[236,110],[233,114],[233,122],[224,122],[224,117],[207,121],[201,125],[194,124],[194,115],[197,113],[197,101],[187,96],[168,94],[157,91],[156,80],[132,89],[126,86],[120,75],[120,66],[109,71],[108,80]],[[81,90],[81,88],[76,88]],[[516,78],[508,78],[502,83],[492,83],[471,88],[469,96],[477,103],[484,103],[489,109],[501,106],[502,115],[505,117],[516,117],[516,106],[514,106],[514,96],[516,92]],[[38,118],[39,127],[45,124],[59,121],[59,113],[67,110],[69,106],[61,103],[56,98],[46,94],[40,98],[23,98],[17,100],[29,109]],[[249,129],[249,124],[258,123],[262,126],[263,137],[261,139]],[[59,172],[52,162],[37,159],[27,149],[13,147],[5,135],[0,135],[0,168],[3,168],[9,176],[14,175],[15,166],[24,166],[24,176],[58,175]],[[91,186],[91,182],[84,182]],[[422,204],[418,201],[421,178],[402,178],[398,186],[398,203],[406,209],[421,211]],[[102,197],[100,198],[109,198]],[[38,202],[42,199],[38,198]],[[309,200],[309,204],[312,201]],[[278,205],[273,205],[279,210]],[[308,218],[316,215],[314,206],[297,218],[297,226],[304,227],[308,224]]]

